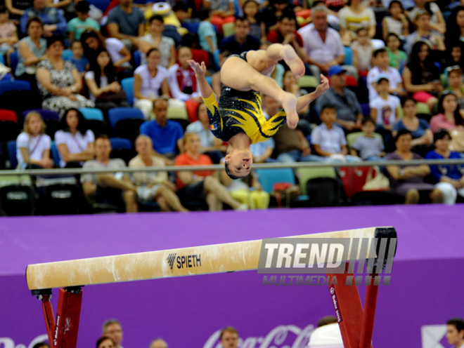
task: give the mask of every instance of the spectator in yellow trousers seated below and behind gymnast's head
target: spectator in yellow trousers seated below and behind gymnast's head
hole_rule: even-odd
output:
[[[222,185],[226,187],[233,199],[242,204],[246,204],[250,209],[269,208],[271,197],[266,191],[263,191],[261,184],[259,184],[257,180],[257,175],[255,175],[254,172],[252,172],[250,180],[251,187],[248,186],[243,179],[232,180],[227,175],[226,170],[221,170]]]

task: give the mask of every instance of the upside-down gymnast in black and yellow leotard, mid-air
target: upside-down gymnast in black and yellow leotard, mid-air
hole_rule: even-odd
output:
[[[321,75],[321,85],[313,93],[296,98],[292,93],[283,91],[269,77],[280,60],[287,63],[297,79],[304,75],[304,64],[290,45],[272,44],[266,51],[247,51],[228,57],[221,67],[219,105],[205,80],[205,62],[200,65],[193,60],[188,61],[195,71],[207,106],[212,133],[231,145],[225,159],[226,173],[232,179],[250,174],[252,143],[271,138],[285,121],[289,128],[295,129],[299,121],[298,112],[328,90],[328,79]],[[283,111],[266,121],[259,93],[281,102]]]

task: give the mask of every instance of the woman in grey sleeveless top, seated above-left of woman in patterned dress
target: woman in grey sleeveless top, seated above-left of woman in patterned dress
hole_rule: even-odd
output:
[[[19,41],[17,79],[29,81],[32,93],[39,95],[35,73],[37,65],[46,59],[46,39],[42,38],[44,23],[38,17],[27,20],[27,36]]]

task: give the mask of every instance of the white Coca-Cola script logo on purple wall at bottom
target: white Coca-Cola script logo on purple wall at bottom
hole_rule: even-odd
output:
[[[307,347],[314,325],[299,328],[295,325],[281,325],[273,328],[265,336],[240,337],[238,348],[303,348]],[[219,341],[221,329],[213,333],[203,348],[222,348]]]

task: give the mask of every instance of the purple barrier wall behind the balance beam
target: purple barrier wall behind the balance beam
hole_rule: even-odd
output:
[[[0,347],[30,348],[44,339],[41,304],[25,283],[29,263],[382,225],[397,228],[399,246],[392,282],[379,290],[373,347],[420,347],[421,326],[463,316],[462,208],[2,218]],[[232,225],[237,221],[245,230]],[[241,348],[297,348],[321,316],[334,314],[326,286],[262,286],[262,279],[250,271],[86,286],[78,347],[94,347],[103,321],[117,318],[125,348],[148,348],[155,337],[171,348],[216,348],[226,325],[238,328]],[[54,295],[56,308],[58,290]]]

